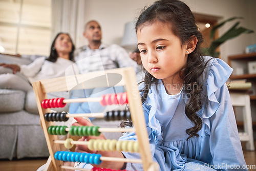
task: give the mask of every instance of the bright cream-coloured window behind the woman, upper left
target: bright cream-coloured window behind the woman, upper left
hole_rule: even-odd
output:
[[[0,53],[50,54],[51,0],[0,0]]]

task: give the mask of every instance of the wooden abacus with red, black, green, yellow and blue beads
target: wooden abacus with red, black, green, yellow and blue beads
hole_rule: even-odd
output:
[[[102,76],[102,71],[79,74],[75,76],[58,77],[46,80],[35,81],[32,83],[38,111],[41,120],[41,126],[44,130],[45,138],[48,145],[50,157],[46,164],[45,170],[90,170],[82,168],[74,168],[70,166],[64,166],[64,161],[72,162],[86,162],[91,164],[100,164],[102,161],[119,161],[130,163],[142,163],[143,170],[156,171],[159,170],[158,163],[153,162],[153,157],[150,151],[150,144],[148,142],[148,135],[146,131],[146,124],[144,119],[144,113],[141,104],[141,98],[139,95],[136,75],[133,68],[119,68],[113,70],[106,70],[103,72],[107,81],[104,83],[83,84],[78,89],[92,89],[96,87],[114,87],[124,86],[125,93],[119,94],[107,94],[102,95],[99,98],[78,98],[78,99],[47,99],[47,93],[57,91],[69,91],[70,84],[82,83],[85,80],[89,80]],[[110,74],[120,74],[121,80],[115,84],[112,84],[108,77]],[[75,77],[75,78],[74,78]],[[74,87],[73,86],[73,87]],[[66,112],[55,113],[50,112],[49,108],[62,108],[66,103],[71,102],[99,102],[101,105],[129,104],[129,111],[109,111],[106,113],[91,113],[91,114],[68,114]],[[101,117],[104,120],[125,120],[132,119],[134,127],[131,128],[113,128],[113,127],[99,127],[99,126],[55,126],[52,121],[67,121],[69,117]],[[58,140],[57,135],[66,135],[70,133],[73,136],[98,136],[102,132],[135,132],[137,135],[136,141],[117,141],[117,140],[94,140],[89,141],[74,141],[72,139]],[[70,149],[74,144],[88,145],[89,149],[96,149],[97,151],[126,151],[131,153],[139,153],[140,159],[129,158],[117,158],[117,157],[105,157],[100,154],[89,153],[77,153],[60,151],[60,145],[65,145]],[[112,170],[111,168],[98,168],[93,167],[91,170]]]

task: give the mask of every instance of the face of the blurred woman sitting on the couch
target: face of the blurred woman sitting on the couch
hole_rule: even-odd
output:
[[[72,41],[67,34],[60,34],[56,40],[54,47],[57,53],[70,53],[72,50]]]

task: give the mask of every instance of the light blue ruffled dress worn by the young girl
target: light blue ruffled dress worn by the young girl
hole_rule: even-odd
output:
[[[187,140],[185,131],[193,124],[185,115],[187,96],[183,89],[177,95],[168,95],[162,80],[158,80],[143,104],[151,152],[162,171],[247,170],[225,83],[232,69],[219,58],[204,57],[204,60],[209,62],[200,78],[204,81],[204,99],[198,112],[203,121],[199,137]],[[136,139],[135,133],[120,137],[120,140]],[[126,158],[139,158],[138,154],[122,153]],[[141,164],[135,163],[127,163],[126,169],[143,170]]]

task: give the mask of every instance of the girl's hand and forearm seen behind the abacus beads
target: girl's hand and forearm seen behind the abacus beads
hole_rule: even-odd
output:
[[[85,125],[85,126],[93,126],[91,122],[89,122],[87,119],[84,118],[75,118],[78,123],[73,123],[75,126],[79,125]],[[99,136],[84,136],[78,141],[89,141],[90,139],[106,139],[105,136],[101,133]],[[121,152],[102,152],[102,151],[91,151],[88,149],[87,145],[77,145],[76,146],[76,152],[79,153],[96,153],[101,154],[105,157],[119,157],[123,158],[123,154]],[[112,168],[112,169],[120,169],[123,166],[123,162],[115,162],[115,161],[102,161],[100,165],[93,165],[95,167],[101,167],[101,168]]]

